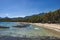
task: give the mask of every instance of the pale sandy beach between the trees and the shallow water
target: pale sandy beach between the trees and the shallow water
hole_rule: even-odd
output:
[[[44,24],[43,23],[31,23],[31,24],[60,32],[60,25],[59,24],[48,24],[48,23],[44,23]]]

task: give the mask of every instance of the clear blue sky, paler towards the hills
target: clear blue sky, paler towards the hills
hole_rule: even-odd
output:
[[[0,0],[0,17],[25,17],[60,9],[60,0]]]

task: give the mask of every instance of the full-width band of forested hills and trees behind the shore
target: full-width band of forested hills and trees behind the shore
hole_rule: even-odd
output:
[[[26,16],[24,18],[1,18],[1,22],[33,22],[33,23],[60,23],[60,9],[48,12],[40,13],[31,16]]]

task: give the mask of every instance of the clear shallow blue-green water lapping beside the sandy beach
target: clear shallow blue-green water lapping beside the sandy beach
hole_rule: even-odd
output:
[[[0,22],[0,26],[10,27],[10,28],[0,28],[0,36],[17,36],[17,37],[23,37],[23,36],[60,36],[58,34],[55,34],[51,31],[48,31],[47,29],[29,25],[25,28],[18,28],[13,27],[20,25],[20,22]]]

